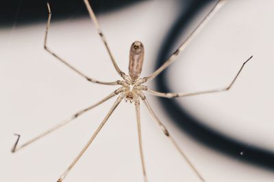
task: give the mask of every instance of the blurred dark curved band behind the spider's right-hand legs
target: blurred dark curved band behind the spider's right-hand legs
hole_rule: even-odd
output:
[[[166,58],[174,51],[171,50],[173,45],[177,42],[177,38],[182,35],[186,27],[188,27],[188,24],[192,18],[195,17],[195,14],[211,1],[212,0],[193,0],[188,1],[188,4],[182,4],[182,7],[188,5],[188,8],[185,11],[182,11],[182,14],[177,18],[173,27],[171,27],[169,34],[167,34],[158,54],[156,68],[159,68],[159,66],[166,61]],[[160,92],[172,91],[171,87],[167,85],[169,82],[166,79],[166,73],[167,72],[164,71],[155,78],[157,90]],[[240,161],[246,161],[250,164],[274,170],[273,152],[251,146],[250,144],[245,144],[238,140],[233,140],[232,138],[223,135],[223,133],[219,133],[206,125],[201,124],[199,120],[192,118],[190,114],[184,110],[184,107],[177,103],[176,99],[161,98],[160,103],[162,103],[162,107],[164,107],[164,110],[166,110],[169,117],[177,123],[178,127],[183,129],[192,138],[201,142],[201,144],[214,148],[215,150],[239,159]],[[243,155],[240,155],[241,151],[244,151]]]

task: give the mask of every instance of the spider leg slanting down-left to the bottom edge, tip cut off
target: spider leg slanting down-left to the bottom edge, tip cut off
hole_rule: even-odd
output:
[[[108,118],[110,118],[110,115],[112,114],[112,112],[114,112],[114,110],[119,105],[119,103],[121,103],[123,97],[124,97],[123,93],[119,95],[119,97],[116,99],[114,105],[112,105],[110,111],[105,116],[105,118],[103,119],[103,121],[101,122],[101,124],[99,125],[99,127],[97,128],[97,130],[95,131],[95,133],[93,133],[93,135],[90,138],[90,140],[88,141],[88,143],[84,146],[84,148],[79,153],[79,155],[73,160],[73,163],[69,166],[69,168],[67,168],[67,170],[58,179],[58,182],[62,182],[64,180],[64,178],[66,177],[66,175],[69,174],[69,172],[71,171],[71,168],[73,168],[73,166],[77,163],[77,161],[80,159],[80,157],[82,157],[82,155],[84,154],[84,152],[86,151],[86,149],[88,149],[88,146],[90,146],[90,144],[95,139],[95,137],[97,136],[97,134],[99,133],[99,131],[101,131],[101,129],[103,128],[103,125],[105,125],[105,122],[107,122]]]

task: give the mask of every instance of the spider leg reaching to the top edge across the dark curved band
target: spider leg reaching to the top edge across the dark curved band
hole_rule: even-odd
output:
[[[186,40],[171,55],[171,57],[169,57],[169,59],[166,60],[166,62],[164,64],[162,64],[162,66],[160,66],[160,68],[155,70],[155,72],[151,73],[151,75],[149,75],[148,77],[144,77],[143,79],[145,79],[145,81],[149,81],[149,80],[153,79],[154,77],[159,75],[165,68],[167,68],[173,61],[175,61],[176,58],[184,51],[184,49],[186,49],[187,45],[191,42],[191,40],[201,30],[203,25],[205,25],[208,22],[208,20],[212,17],[212,15],[216,12],[216,10],[218,10],[221,7],[221,5],[223,4],[224,1],[225,0],[219,0],[219,2],[216,3],[216,5],[214,5],[212,10],[210,10],[210,12],[206,15],[206,17],[203,18],[203,21],[201,21],[201,23],[199,23],[199,25],[192,31],[192,33],[188,36],[188,38],[186,38]]]

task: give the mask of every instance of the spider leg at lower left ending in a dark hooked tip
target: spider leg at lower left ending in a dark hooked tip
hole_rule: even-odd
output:
[[[94,107],[96,107],[97,105],[100,105],[101,103],[108,101],[108,99],[112,98],[113,96],[115,96],[117,93],[116,92],[112,92],[110,95],[106,96],[104,99],[102,99],[101,101],[95,103],[94,105],[91,105],[90,107],[87,107],[86,109],[82,109],[79,112],[73,114],[73,116],[66,118],[66,120],[63,120],[62,122],[58,123],[57,125],[55,125],[54,127],[52,127],[51,129],[40,133],[40,135],[37,135],[35,138],[33,138],[32,140],[29,140],[28,142],[25,142],[25,144],[22,144],[21,146],[17,147],[18,144],[18,140],[20,138],[20,135],[17,135],[17,140],[12,148],[12,153],[15,153],[19,150],[21,150],[22,148],[24,148],[25,146],[28,146],[29,144],[32,144],[33,142],[36,142],[37,140],[39,140],[40,138],[45,137],[45,135],[48,135],[49,133],[52,133],[53,131],[60,129],[61,127],[63,127],[64,125],[67,125],[69,122],[71,122],[72,120],[74,120],[75,118],[77,118],[78,116],[84,114],[85,112],[89,111],[90,109],[93,109]]]

